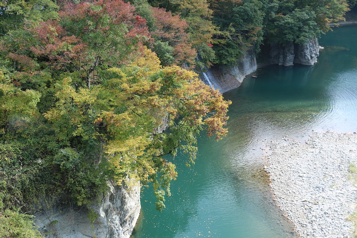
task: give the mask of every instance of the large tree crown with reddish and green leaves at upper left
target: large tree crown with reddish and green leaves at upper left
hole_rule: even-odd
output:
[[[26,29],[38,40],[30,49],[54,69],[91,70],[90,74],[99,63],[118,66],[139,50],[133,45],[151,39],[146,20],[134,11],[134,6],[121,0],[66,3],[58,21]],[[105,54],[100,52],[103,49]]]

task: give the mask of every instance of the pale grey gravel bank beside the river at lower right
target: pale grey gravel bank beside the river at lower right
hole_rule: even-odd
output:
[[[305,143],[267,143],[265,169],[276,202],[301,237],[351,237],[347,218],[357,190],[348,179],[357,164],[357,134],[313,133]]]

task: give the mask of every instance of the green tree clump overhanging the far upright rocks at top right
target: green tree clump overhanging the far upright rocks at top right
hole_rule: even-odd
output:
[[[267,38],[270,42],[302,44],[329,31],[329,23],[344,20],[346,11],[345,0],[282,1],[267,24]]]

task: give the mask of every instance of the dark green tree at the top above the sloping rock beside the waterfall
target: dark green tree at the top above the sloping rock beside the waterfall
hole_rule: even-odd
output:
[[[224,14],[222,9],[228,12]],[[219,3],[214,17],[214,22],[221,29],[213,48],[217,55],[216,63],[231,65],[242,57],[245,50],[253,48],[259,51],[263,41],[264,17],[263,3],[259,0]]]

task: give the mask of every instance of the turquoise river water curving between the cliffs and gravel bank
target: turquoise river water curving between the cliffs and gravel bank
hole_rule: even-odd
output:
[[[133,237],[293,237],[269,192],[261,148],[313,130],[357,131],[356,42],[356,26],[336,29],[320,40],[315,66],[269,66],[225,93],[233,101],[227,137],[202,137],[191,168],[177,156],[179,177],[161,213],[144,189]]]

